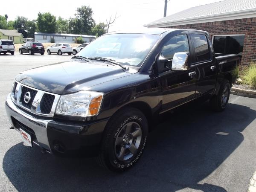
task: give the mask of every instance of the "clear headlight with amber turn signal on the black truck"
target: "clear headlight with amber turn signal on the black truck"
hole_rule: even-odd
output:
[[[79,91],[61,96],[57,114],[71,116],[93,116],[99,113],[104,93]]]

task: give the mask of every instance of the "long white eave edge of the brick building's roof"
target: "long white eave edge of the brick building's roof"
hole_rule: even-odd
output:
[[[177,26],[177,25],[186,25],[186,24],[194,24],[194,23],[207,23],[213,21],[221,21],[221,20],[234,20],[234,19],[244,19],[256,17],[256,9],[244,10],[243,12],[231,12],[224,14],[215,14],[215,15],[207,15],[204,17],[193,17],[188,19],[181,19],[175,21],[167,21],[161,23],[149,23],[143,26],[153,28],[153,27],[168,27],[168,26]]]

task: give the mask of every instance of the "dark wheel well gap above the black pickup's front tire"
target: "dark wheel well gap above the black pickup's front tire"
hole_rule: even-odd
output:
[[[132,102],[132,103],[129,103],[128,105],[123,106],[122,108],[125,108],[125,107],[132,107],[140,110],[147,118],[148,129],[149,129],[148,131],[151,131],[154,121],[153,121],[153,115],[151,113],[152,109],[148,104],[146,104],[145,102]]]

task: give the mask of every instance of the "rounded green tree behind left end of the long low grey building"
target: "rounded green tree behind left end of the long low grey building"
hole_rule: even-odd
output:
[[[55,33],[56,17],[49,12],[38,13],[37,26],[39,32]]]

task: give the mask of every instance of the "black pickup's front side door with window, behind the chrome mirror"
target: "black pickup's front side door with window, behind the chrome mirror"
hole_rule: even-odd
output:
[[[172,67],[172,58],[176,52],[186,52],[189,55],[188,70],[168,70],[160,73],[163,98],[161,112],[168,111],[183,103],[195,99],[196,79],[195,66],[190,66],[190,48],[192,47],[188,32],[169,38],[163,46],[161,56],[169,62],[166,66]]]

